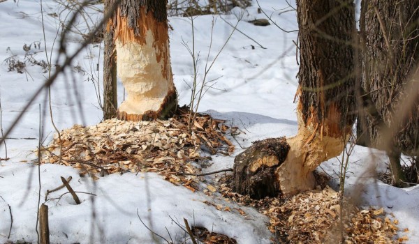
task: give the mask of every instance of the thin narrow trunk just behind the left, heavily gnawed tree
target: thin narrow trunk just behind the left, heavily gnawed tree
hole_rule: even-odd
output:
[[[110,0],[105,0],[105,10],[110,10]],[[103,51],[103,119],[117,117],[117,64],[114,44],[114,29],[111,28],[112,20],[105,26]]]

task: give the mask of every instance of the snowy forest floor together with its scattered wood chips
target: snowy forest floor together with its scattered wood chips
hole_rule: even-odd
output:
[[[254,201],[230,190],[228,170],[237,154],[253,141],[290,137],[297,131],[297,32],[249,23],[266,18],[256,1],[246,10],[234,8],[229,15],[202,15],[193,21],[201,81],[207,54],[212,63],[233,31],[230,24],[242,16],[207,74],[210,83],[205,87],[211,88],[192,130],[182,117],[102,121],[103,43],[84,48],[51,87],[52,118],[63,140],[60,158],[47,91],[23,108],[48,76],[45,54],[52,73],[63,60],[54,40],[68,20],[70,3],[43,1],[42,18],[38,1],[0,2],[3,132],[23,112],[0,148],[0,243],[36,243],[41,203],[49,207],[52,243],[191,243],[186,222],[203,243],[335,243],[342,233],[348,243],[419,242],[419,188],[399,189],[379,181],[377,176],[388,171],[382,151],[355,146],[349,155],[342,154],[350,162],[344,203],[337,193],[342,155],[318,168],[323,183],[316,190],[289,199]],[[295,11],[285,1],[260,4],[281,28],[297,29]],[[76,21],[66,43],[69,55],[100,20],[101,9],[91,5],[85,18]],[[189,104],[193,62],[184,45],[192,45],[191,20],[169,20],[179,105]],[[118,91],[121,102],[120,82]],[[409,165],[409,158],[403,160]],[[196,176],[214,171],[220,172]],[[65,188],[48,191],[63,184],[61,177],[68,179],[80,204]],[[341,217],[348,221],[340,222]]]

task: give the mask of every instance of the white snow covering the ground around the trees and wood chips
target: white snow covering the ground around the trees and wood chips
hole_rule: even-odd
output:
[[[279,15],[280,9],[286,8],[284,1],[259,1],[261,8],[281,28],[292,31],[297,29],[295,12],[288,11]],[[45,0],[44,19],[47,52],[50,55],[59,21],[46,14],[61,13],[65,17],[68,11],[57,1]],[[101,8],[101,6],[96,6]],[[214,61],[207,80],[216,79],[215,89],[205,93],[199,111],[207,112],[220,119],[227,119],[228,124],[240,128],[242,133],[232,142],[237,150],[231,156],[213,157],[211,167],[206,171],[225,169],[233,166],[234,156],[249,146],[252,141],[267,137],[295,135],[297,122],[293,103],[297,88],[298,66],[295,56],[297,32],[285,33],[271,24],[254,26],[246,20],[263,18],[258,14],[256,1],[246,10],[233,9],[232,15],[199,16],[194,19],[196,50],[200,52],[199,77],[203,77],[207,53],[211,43],[211,27],[214,20],[212,47],[208,62],[214,61],[219,49],[233,31],[226,24],[233,25],[237,16],[242,20],[228,41],[223,52]],[[87,9],[90,22],[96,22],[100,15]],[[39,66],[27,65],[24,74],[8,72],[6,59],[15,55],[15,59],[24,60],[22,46],[40,42],[41,49],[29,51],[38,61],[45,60],[41,5],[39,1],[20,0],[15,3],[8,0],[0,3],[0,99],[2,107],[3,130],[10,128],[17,114],[34,92],[45,82],[47,73]],[[225,21],[226,22],[225,22]],[[89,24],[91,26],[91,23]],[[170,53],[175,85],[179,93],[179,104],[189,103],[193,74],[192,59],[184,44],[192,45],[191,21],[186,17],[170,17]],[[87,32],[89,28],[79,20],[77,29]],[[260,47],[253,38],[266,49]],[[71,33],[71,41],[65,43],[69,53],[79,47],[80,35]],[[58,56],[59,43],[55,43],[52,63],[62,61]],[[62,130],[73,124],[93,125],[102,119],[98,105],[98,87],[102,89],[102,71],[96,71],[96,64],[102,70],[103,52],[100,45],[90,45],[82,50],[73,61],[73,66],[80,66],[86,73],[67,70],[52,86],[52,112],[54,123]],[[54,72],[54,68],[52,70]],[[93,79],[94,78],[94,79]],[[218,78],[218,79],[217,79]],[[118,84],[122,91],[122,84]],[[100,90],[99,93],[102,91]],[[119,102],[124,94],[119,92]],[[270,243],[272,237],[266,225],[269,220],[256,210],[229,203],[216,197],[207,197],[202,192],[191,192],[183,187],[172,185],[156,174],[113,174],[92,181],[80,177],[72,167],[42,165],[39,169],[33,164],[38,146],[40,114],[43,144],[50,142],[54,128],[50,121],[47,107],[47,93],[43,91],[29,106],[24,116],[17,123],[6,140],[10,160],[1,162],[0,167],[0,243],[8,241],[10,215],[13,212],[11,241],[36,242],[36,211],[38,195],[41,202],[46,190],[61,185],[60,176],[72,176],[71,185],[82,203],[75,205],[70,195],[61,199],[47,201],[50,208],[50,231],[52,243],[153,243],[164,242],[152,236],[141,220],[156,234],[173,241],[183,241],[184,231],[175,221],[184,225],[183,218],[189,223],[206,227],[209,230],[236,238],[238,243]],[[41,109],[41,113],[40,113]],[[239,145],[240,143],[240,145]],[[372,155],[375,156],[373,160]],[[5,147],[0,147],[0,157],[4,158]],[[348,197],[360,200],[363,206],[383,206],[385,211],[393,213],[400,221],[400,229],[409,228],[405,234],[408,243],[419,242],[419,188],[393,188],[372,178],[376,171],[385,171],[388,158],[381,151],[355,146],[350,158],[351,164],[346,179]],[[339,171],[338,159],[332,159],[321,165],[322,169],[334,175]],[[41,176],[41,193],[38,188],[38,170]],[[214,178],[207,177],[211,183]],[[205,183],[203,183],[205,184]],[[337,185],[337,181],[334,181]],[[66,190],[52,192],[50,198],[58,198]],[[94,195],[90,195],[94,194]],[[248,215],[244,217],[237,211],[218,211],[204,201],[215,204],[242,208]],[[138,218],[138,215],[140,218]],[[174,221],[173,221],[174,220]],[[170,236],[169,236],[170,234]]]

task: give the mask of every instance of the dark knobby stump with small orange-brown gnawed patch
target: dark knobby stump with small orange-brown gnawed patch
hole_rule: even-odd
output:
[[[285,137],[253,142],[235,158],[233,190],[253,199],[279,196],[281,190],[276,171],[286,160],[289,150]]]

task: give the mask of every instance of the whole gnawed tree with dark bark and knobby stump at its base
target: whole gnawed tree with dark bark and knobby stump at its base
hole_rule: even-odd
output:
[[[255,198],[316,185],[312,171],[341,153],[355,121],[353,1],[297,1],[300,70],[295,137],[256,142],[235,159],[233,188]]]

